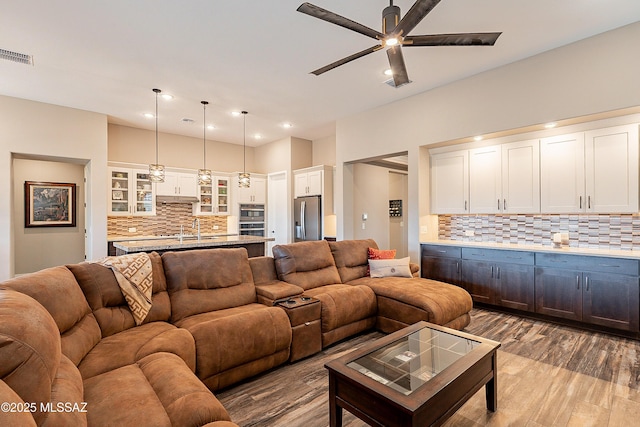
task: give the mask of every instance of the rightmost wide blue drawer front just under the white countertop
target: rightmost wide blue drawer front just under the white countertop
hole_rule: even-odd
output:
[[[633,259],[537,253],[536,265],[570,268],[580,271],[638,275],[638,261]]]

